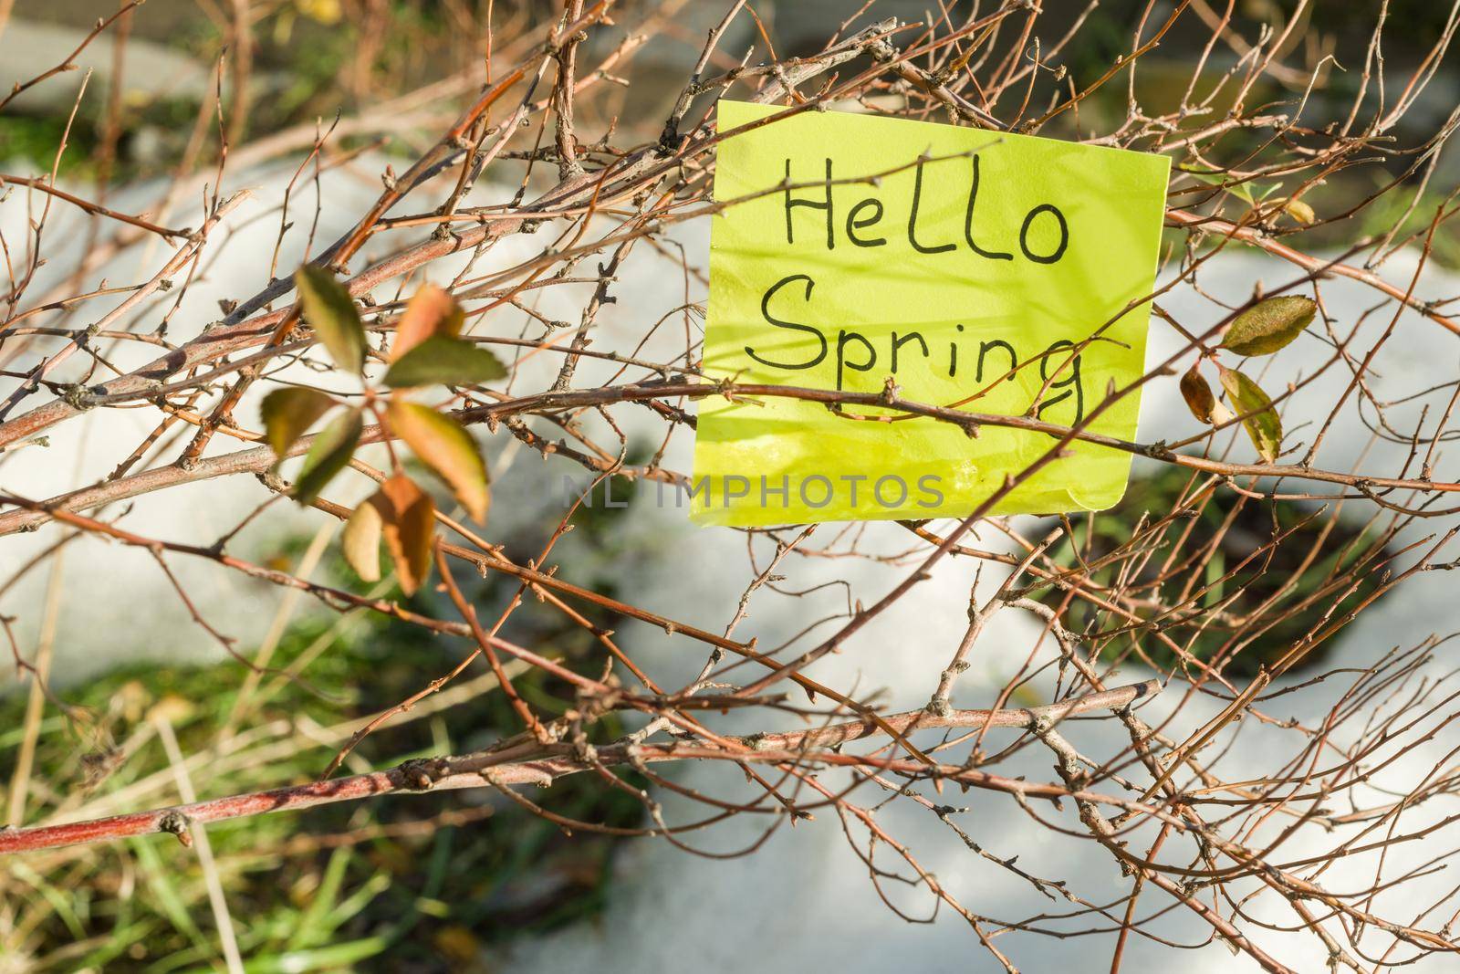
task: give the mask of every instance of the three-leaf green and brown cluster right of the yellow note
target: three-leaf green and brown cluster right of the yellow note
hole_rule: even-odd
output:
[[[1302,334],[1313,323],[1317,310],[1318,305],[1313,298],[1298,295],[1259,301],[1232,320],[1222,336],[1221,348],[1242,356],[1272,355]],[[1257,453],[1267,463],[1275,463],[1282,453],[1282,419],[1273,409],[1272,399],[1245,372],[1226,368],[1215,358],[1213,365]],[[1200,359],[1181,377],[1181,397],[1191,415],[1204,423],[1219,426],[1232,418],[1202,375]]]

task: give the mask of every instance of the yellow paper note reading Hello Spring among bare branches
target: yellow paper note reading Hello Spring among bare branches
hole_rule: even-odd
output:
[[[781,111],[721,101],[720,131]],[[1168,166],[848,112],[731,136],[715,165],[726,209],[711,228],[704,371],[847,393],[879,393],[891,378],[904,400],[1007,416],[1032,407],[1070,426],[1111,383],[1143,371],[1149,304],[1132,305],[1155,283]],[[1088,429],[1132,440],[1139,409],[1139,394],[1126,396]],[[707,397],[692,517],[748,527],[967,515],[1056,442],[891,415]],[[1129,473],[1129,454],[1073,442],[991,513],[1110,507]]]

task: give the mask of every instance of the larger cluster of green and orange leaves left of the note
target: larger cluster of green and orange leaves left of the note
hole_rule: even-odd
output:
[[[305,264],[293,276],[304,321],[314,330],[334,365],[365,377],[365,326],[349,291],[328,270]],[[489,350],[460,337],[466,315],[456,299],[434,285],[412,296],[396,321],[396,340],[380,387],[366,381],[359,404],[304,386],[269,393],[260,413],[269,445],[283,461],[321,418],[334,413],[310,444],[293,482],[292,496],[310,504],[343,470],[365,431],[369,413],[390,447],[400,440],[429,467],[479,524],[491,505],[491,478],[472,434],[451,416],[413,403],[410,390],[428,386],[474,386],[505,378],[507,368]],[[406,473],[394,447],[391,475],[345,523],[345,559],[364,581],[381,577],[380,546],[385,545],[406,594],[431,574],[435,504]]]

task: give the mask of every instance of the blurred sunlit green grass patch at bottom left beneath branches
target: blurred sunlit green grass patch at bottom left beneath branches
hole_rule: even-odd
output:
[[[505,583],[473,581],[479,605],[505,599]],[[530,637],[514,635],[585,673],[602,669],[577,626],[534,625]],[[28,822],[77,803],[88,818],[175,803],[172,771],[152,723],[159,714],[174,724],[185,755],[204,755],[191,768],[200,797],[311,780],[359,718],[442,675],[466,648],[460,640],[423,637],[364,615],[339,628],[328,619],[296,625],[273,667],[298,667],[298,679],[258,680],[232,746],[219,746],[219,733],[247,676],[239,663],[128,667],[70,688],[64,698],[77,708],[73,717],[47,711]],[[469,751],[520,729],[485,666],[461,680],[476,680],[476,691],[451,707],[439,705],[448,697],[418,705],[364,742],[346,771]],[[536,670],[517,685],[534,701],[572,699]],[[0,699],[6,783],[23,708],[20,694]],[[620,730],[606,720],[593,737],[606,740]],[[95,780],[96,767],[111,772]],[[572,818],[620,827],[642,819],[634,797],[590,775],[530,797]],[[472,970],[493,945],[599,911],[616,841],[568,837],[493,799],[486,790],[445,791],[209,827],[247,970]],[[486,800],[493,809],[482,818],[479,803]],[[439,815],[470,821],[439,824]],[[172,837],[39,853],[7,867],[4,902],[15,923],[0,927],[0,967],[16,961],[20,970],[164,974],[215,970],[219,962],[199,857]]]

